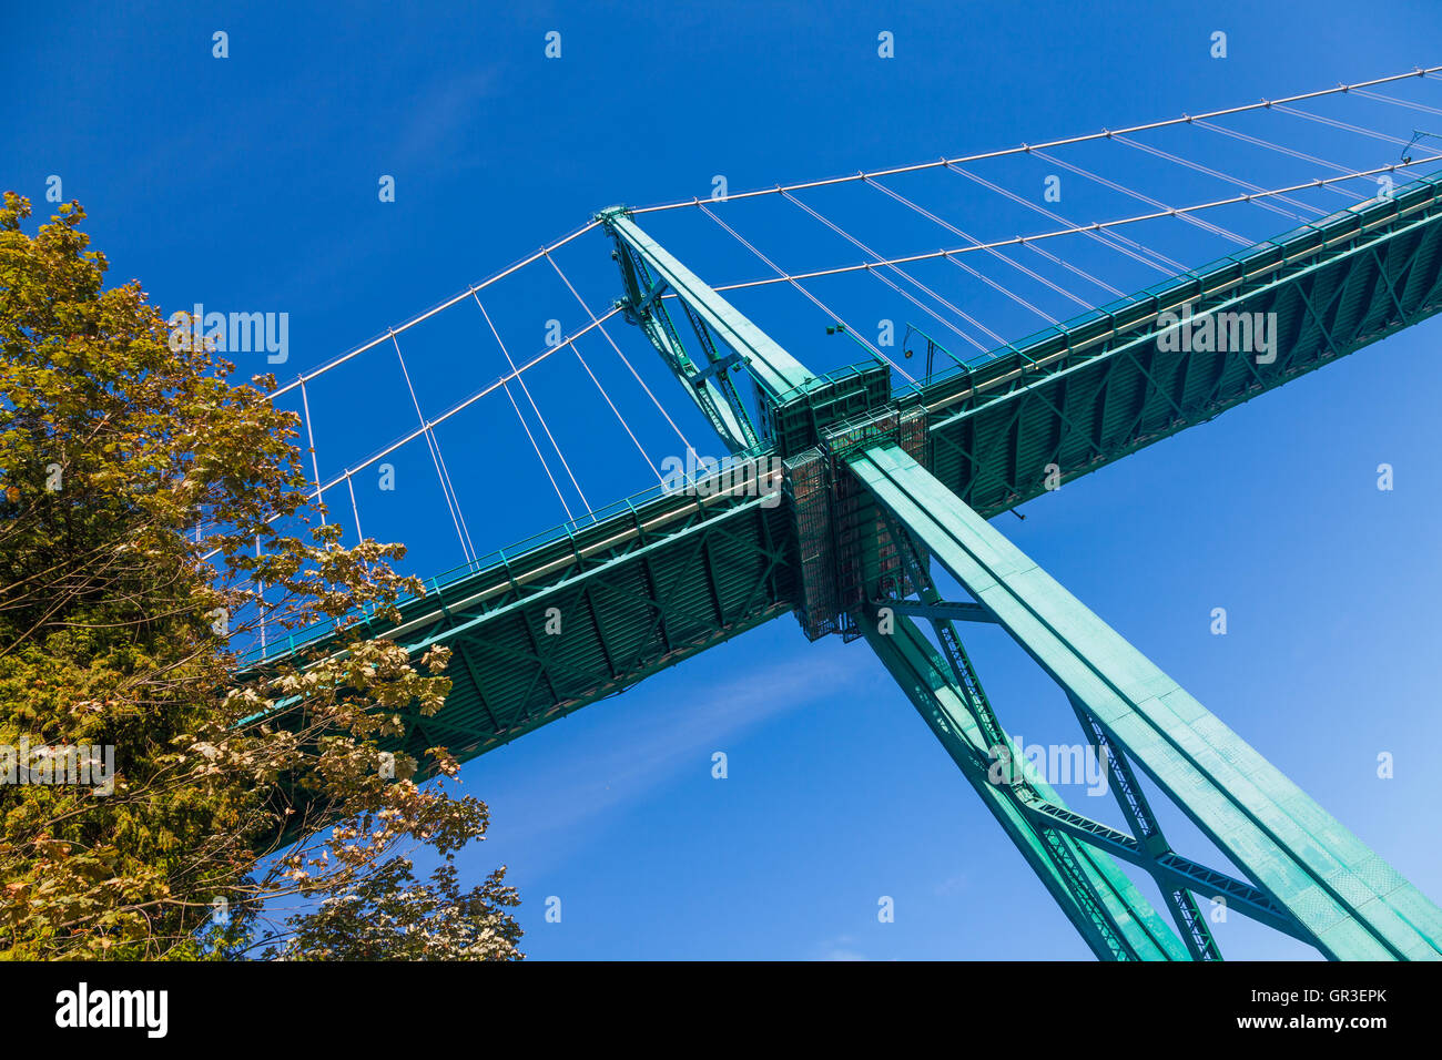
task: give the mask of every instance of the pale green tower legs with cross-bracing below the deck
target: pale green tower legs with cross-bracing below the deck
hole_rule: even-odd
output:
[[[985,699],[968,701],[957,669],[943,663],[910,622],[910,614],[927,614],[949,626],[949,611],[960,613],[937,600],[921,571],[911,577],[919,601],[877,597],[857,620],[968,779],[985,759],[994,813],[999,816],[995,803],[1004,800],[1032,834],[1060,834],[1149,873],[1193,956],[1217,955],[1197,896],[1226,901],[1231,911],[1309,942],[1332,959],[1442,959],[1436,906],[901,447],[888,441],[854,450],[845,464],[884,518],[901,528],[900,548],[934,557],[975,597],[973,606],[1061,685],[1089,741],[1112,757],[1110,786],[1136,835],[1067,809],[1031,776],[999,728],[986,731]],[[939,640],[953,650],[945,627]],[[1250,883],[1171,849],[1132,763]],[[1008,831],[1035,867],[1032,852]],[[1044,874],[1043,880],[1056,894]],[[1076,901],[1058,901],[1076,923]],[[1093,949],[1106,956],[1094,943]]]

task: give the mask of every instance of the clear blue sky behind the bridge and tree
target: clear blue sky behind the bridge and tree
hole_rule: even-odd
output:
[[[89,211],[112,280],[140,277],[167,312],[202,301],[288,313],[288,358],[275,366],[286,381],[614,202],[705,198],[717,176],[734,192],[970,154],[1439,62],[1423,42],[1438,39],[1442,12],[1420,1],[1364,16],[1330,0],[1106,9],[79,4],[62,19],[32,6],[10,17],[0,45],[14,102],[0,183],[39,212],[48,177],[59,176],[63,198]],[[216,30],[228,33],[225,59],[212,56]],[[559,59],[545,56],[552,30]],[[1227,33],[1224,59],[1210,55],[1216,30]],[[877,53],[881,32],[894,35],[894,59]],[[1438,81],[1386,91],[1442,107]],[[1442,131],[1442,117],[1357,98],[1312,110],[1393,136],[1429,121]],[[1393,146],[1276,114],[1231,127],[1354,169],[1397,157]],[[1198,130],[1159,130],[1146,143],[1265,186],[1317,175]],[[1169,205],[1229,193],[1118,144],[1064,157]],[[1040,199],[1051,169],[1019,157],[973,172]],[[384,175],[395,202],[379,200]],[[956,175],[890,186],[981,238],[1054,226]],[[865,190],[806,200],[887,254],[959,245]],[[1051,208],[1074,221],[1145,209],[1073,175]],[[862,257],[776,198],[722,209],[789,270]],[[767,274],[694,209],[652,216],[647,228],[702,277]],[[1295,224],[1240,206],[1214,219],[1247,239]],[[1234,249],[1175,222],[1133,238],[1188,265]],[[1161,278],[1077,242],[1056,252],[1122,290]],[[1076,274],[1018,260],[1106,299]],[[593,309],[620,293],[598,234],[557,261]],[[1004,262],[978,268],[1021,290]],[[924,275],[952,284],[952,297],[1009,339],[1044,323],[956,270]],[[933,330],[865,277],[812,290],[864,335],[883,317]],[[1050,290],[1027,297],[1057,317],[1077,312]],[[826,339],[825,317],[795,291],[738,294],[737,304],[812,366],[859,355]],[[548,320],[568,333],[587,320],[544,262],[497,286],[487,310],[516,359],[544,348]],[[399,337],[427,414],[505,369],[483,327],[461,304]],[[676,424],[609,343],[594,333],[577,343],[649,457],[679,451],[678,434],[720,453],[643,339],[619,322],[610,333]],[[949,335],[962,350],[960,333]],[[1428,322],[1070,483],[1027,505],[1025,522],[996,524],[1433,897],[1442,854],[1422,808],[1442,776],[1439,335]],[[247,369],[264,371],[261,361],[241,355]],[[655,483],[574,358],[526,378],[593,506]],[[394,350],[324,376],[310,399],[323,477],[417,423]],[[500,392],[438,437],[476,551],[555,525],[562,499],[581,511],[568,486],[558,499]],[[365,531],[404,539],[420,573],[461,562],[425,449],[395,463],[394,493],[358,479]],[[1394,490],[1376,487],[1379,463],[1396,469]],[[1214,607],[1227,609],[1226,636],[1210,632]],[[1060,691],[1014,645],[989,630],[968,643],[1014,733],[1079,740]],[[728,756],[725,780],[711,777],[714,751]],[[1376,776],[1383,751],[1396,759],[1387,780]],[[510,867],[535,958],[1089,955],[865,646],[809,645],[792,619],[470,763],[463,779],[493,815],[490,838],[466,861],[477,873]],[[1107,816],[1100,799],[1079,802]],[[1206,860],[1194,831],[1167,822],[1184,852]],[[561,898],[559,923],[544,919],[549,896]],[[894,923],[878,923],[881,896],[895,901]],[[1229,956],[1309,953],[1236,920],[1218,937]]]

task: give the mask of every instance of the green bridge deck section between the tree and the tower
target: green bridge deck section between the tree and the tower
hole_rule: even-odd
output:
[[[787,513],[763,487],[748,479],[619,505],[597,524],[433,580],[401,604],[398,624],[362,623],[412,653],[435,643],[453,652],[446,707],[404,715],[404,750],[420,759],[444,744],[472,759],[790,611]],[[247,665],[333,643],[322,632]]]

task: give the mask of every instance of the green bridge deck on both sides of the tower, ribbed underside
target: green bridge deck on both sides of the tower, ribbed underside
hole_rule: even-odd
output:
[[[1044,492],[1048,464],[1061,480],[1096,470],[1436,313],[1439,215],[1442,176],[1428,177],[897,401],[926,407],[923,463],[989,518]],[[1275,313],[1275,361],[1195,343],[1165,352],[1158,314],[1184,303]],[[454,650],[447,705],[414,720],[408,750],[482,754],[790,611],[790,526],[784,503],[671,495],[434,584],[401,626],[366,630]],[[552,616],[559,633],[547,632]]]

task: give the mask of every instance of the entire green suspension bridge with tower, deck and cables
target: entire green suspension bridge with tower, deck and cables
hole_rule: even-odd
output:
[[[394,639],[412,653],[433,645],[453,652],[446,707],[434,717],[407,717],[404,750],[420,757],[444,744],[461,760],[485,754],[792,614],[812,640],[838,635],[875,652],[1097,958],[1220,959],[1204,911],[1217,903],[1332,959],[1442,958],[1442,911],[1428,897],[988,522],[1442,309],[1442,173],[1413,176],[1442,162],[1426,149],[1428,134],[1394,121],[1387,123],[1394,131],[1380,131],[1311,110],[1368,101],[1380,114],[1442,115],[1442,108],[1393,95],[1413,85],[1435,88],[1439,69],[985,154],[613,206],[278,388],[274,399],[298,399],[317,499],[342,490],[348,505],[335,508],[349,506],[362,534],[358,474],[423,444],[466,557],[459,570],[427,577],[427,593],[402,603],[399,622],[372,616],[359,623],[360,633]],[[1269,136],[1243,131],[1240,123],[1252,118],[1276,127],[1268,125]],[[1366,140],[1357,149],[1364,157],[1344,164],[1302,150],[1280,134],[1283,121],[1286,128],[1305,123],[1321,130],[1325,143]],[[1305,176],[1252,180],[1148,140],[1158,133],[1275,156],[1278,166]],[[1079,147],[1145,154],[1226,192],[1162,200],[1073,160],[1069,153]],[[1005,177],[983,176],[988,163],[1007,159],[1041,160],[1139,208],[1079,222],[1048,200],[1018,195]],[[1280,172],[1269,167],[1268,176]],[[1027,235],[973,235],[921,205],[924,189],[901,190],[926,175],[966,182],[1040,221]],[[875,239],[862,239],[818,205],[823,189],[846,187],[883,196],[877,202],[933,226],[949,245],[874,249]],[[815,222],[848,257],[783,268],[728,219],[733,203],[747,200]],[[656,222],[678,212],[712,222],[763,274],[704,281],[653,234]],[[1233,219],[1259,212],[1293,224],[1260,241],[1233,231],[1240,226]],[[1142,241],[1161,226],[1234,249],[1188,268],[1177,251]],[[609,304],[597,309],[559,264],[559,251],[583,238],[601,241],[613,262]],[[1063,251],[1079,245],[1092,255],[1086,265]],[[1194,252],[1193,245],[1182,252]],[[1125,294],[1092,264],[1106,260],[1165,278]],[[496,284],[536,270],[561,281],[581,317],[541,352],[518,359],[495,322],[495,303],[486,303]],[[846,278],[880,283],[885,297],[901,299],[904,312],[916,314],[900,355],[894,343],[872,340],[833,310],[845,304],[851,313],[851,296],[823,301],[818,294],[828,281]],[[1018,280],[1030,287],[1012,286]],[[1071,290],[1077,283],[1112,297],[1094,304]],[[957,284],[966,284],[965,293]],[[833,336],[826,349],[855,350],[858,359],[823,366],[810,355],[822,343],[783,346],[774,329],[763,330],[737,306],[766,291],[800,296],[800,312],[815,322],[809,335],[825,324]],[[1044,330],[1005,340],[979,319],[982,296],[1035,313]],[[1040,304],[1043,296],[1086,312],[1058,319]],[[482,335],[503,353],[508,371],[425,417],[401,336],[463,304],[479,309]],[[933,337],[943,330],[945,340]],[[597,348],[588,346],[587,361],[581,339],[604,340],[601,349],[616,356],[610,363],[626,369],[622,379],[639,384],[691,457],[685,473],[662,473],[603,382]],[[653,358],[643,366],[659,362],[675,382],[660,376],[649,385],[636,349]],[[923,350],[924,371],[913,356]],[[389,353],[402,369],[402,397],[414,405],[417,427],[323,476],[311,389],[343,365]],[[609,506],[590,503],[574,454],[567,459],[559,425],[544,415],[531,385],[541,366],[564,355],[574,358],[583,382],[596,385],[656,474],[656,487]],[[653,382],[658,375],[652,372]],[[668,405],[658,391],[685,401]],[[529,447],[568,521],[479,555],[438,428],[485,399],[509,402],[505,408],[523,428],[515,451]],[[715,436],[728,454],[724,466],[698,459],[684,424],[704,424]],[[939,573],[962,596],[947,599]],[[1005,710],[994,710],[963,643],[963,630],[975,623],[1005,630],[1060,686],[1086,741],[1106,756],[1129,831],[1069,808],[1008,736]],[[261,626],[244,665],[264,671],[303,662],[339,643],[340,633],[329,627],[267,636]],[[1174,849],[1152,809],[1158,798],[1231,864],[1223,870]],[[1155,880],[1165,917],[1122,865]]]

